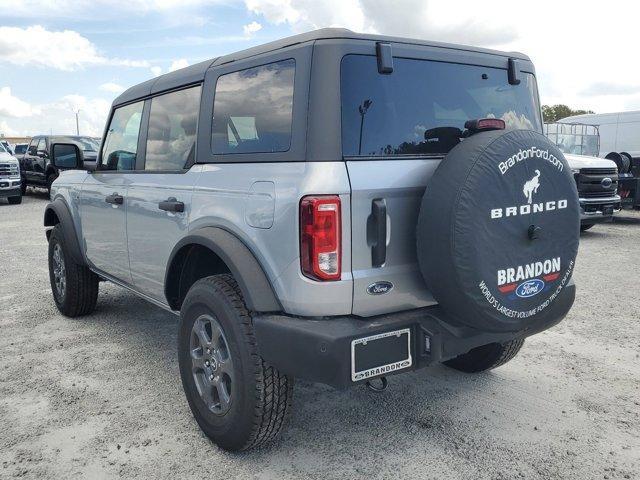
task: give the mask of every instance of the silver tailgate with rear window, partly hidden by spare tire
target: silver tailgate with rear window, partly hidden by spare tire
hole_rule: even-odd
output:
[[[341,65],[353,313],[363,316],[435,303],[417,263],[416,225],[425,187],[463,141],[465,121],[497,117],[542,131],[535,79],[510,85],[506,58],[474,53],[487,63],[478,66],[440,61],[443,53],[426,47],[394,45],[394,53],[390,74],[379,73],[375,55],[346,55]]]

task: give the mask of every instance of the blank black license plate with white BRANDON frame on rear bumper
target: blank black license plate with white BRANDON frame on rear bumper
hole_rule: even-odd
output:
[[[351,341],[351,381],[388,375],[413,365],[411,329]]]

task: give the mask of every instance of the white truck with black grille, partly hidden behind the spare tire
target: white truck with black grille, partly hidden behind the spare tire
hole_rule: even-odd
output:
[[[598,158],[598,127],[578,123],[546,123],[545,134],[564,153],[578,188],[580,230],[611,221],[621,209],[618,168],[612,160]]]

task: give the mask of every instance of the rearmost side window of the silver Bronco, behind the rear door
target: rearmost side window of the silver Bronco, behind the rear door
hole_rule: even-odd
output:
[[[295,60],[220,76],[213,152],[285,152],[291,145]]]

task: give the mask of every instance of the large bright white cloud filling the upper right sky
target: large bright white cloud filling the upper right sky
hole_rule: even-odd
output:
[[[245,0],[245,6],[295,32],[345,27],[521,51],[536,66],[542,103],[597,112],[640,108],[640,62],[632,47],[637,3]]]

